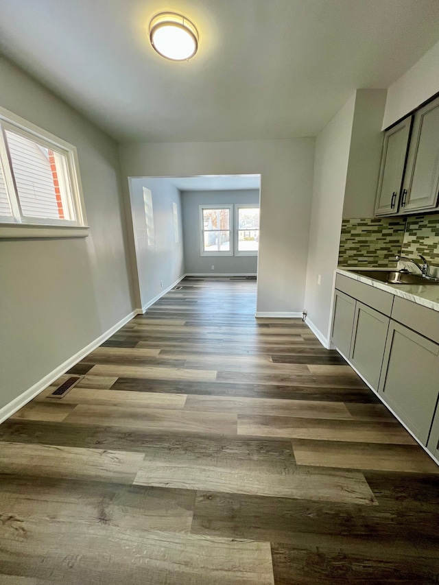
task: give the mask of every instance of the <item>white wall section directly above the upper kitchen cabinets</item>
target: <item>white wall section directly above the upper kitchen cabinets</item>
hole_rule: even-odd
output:
[[[439,43],[388,88],[382,128],[388,128],[439,92]]]

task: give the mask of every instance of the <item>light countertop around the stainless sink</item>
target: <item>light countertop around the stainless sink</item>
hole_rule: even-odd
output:
[[[364,267],[358,270],[366,270]],[[370,270],[381,270],[377,268],[371,268]],[[388,268],[385,270],[394,270],[394,268]],[[355,274],[355,268],[345,269],[337,268],[338,274],[343,274],[354,280],[358,280],[360,283],[370,285],[376,289],[389,292],[395,296],[401,296],[412,302],[416,302],[417,305],[423,305],[434,311],[439,311],[439,285],[391,285],[390,283],[381,283],[380,280],[375,278],[369,278],[368,276],[362,276]]]

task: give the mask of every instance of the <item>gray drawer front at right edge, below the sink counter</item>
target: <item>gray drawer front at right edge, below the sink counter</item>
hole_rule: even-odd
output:
[[[392,319],[439,344],[438,311],[396,296],[393,302]]]

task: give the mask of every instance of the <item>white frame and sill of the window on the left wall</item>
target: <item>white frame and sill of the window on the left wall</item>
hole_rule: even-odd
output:
[[[88,236],[89,228],[86,219],[76,147],[1,107],[0,125],[0,165],[12,212],[11,216],[0,216],[0,238]],[[12,159],[5,136],[6,130],[19,134],[25,139],[35,141],[65,157],[71,191],[69,207],[73,212],[75,220],[23,215],[14,180]]]

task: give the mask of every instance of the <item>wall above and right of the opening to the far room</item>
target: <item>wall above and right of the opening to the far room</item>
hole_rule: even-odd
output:
[[[302,311],[314,139],[126,143],[123,176],[261,174],[258,311]]]

